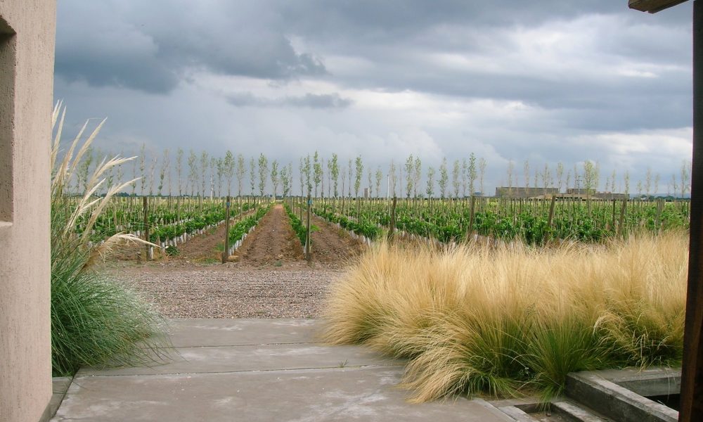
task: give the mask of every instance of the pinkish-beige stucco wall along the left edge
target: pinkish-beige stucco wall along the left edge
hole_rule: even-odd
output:
[[[0,32],[15,33],[0,36],[0,421],[36,422],[51,398],[49,142],[56,1],[0,0],[0,22],[7,24],[0,24]],[[8,83],[12,77],[14,84]]]

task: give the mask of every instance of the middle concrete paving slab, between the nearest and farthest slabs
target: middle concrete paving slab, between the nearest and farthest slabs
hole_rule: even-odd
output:
[[[179,347],[172,362],[135,368],[81,369],[76,376],[154,375],[157,373],[213,373],[274,369],[335,368],[340,366],[402,366],[360,346],[314,343],[261,346]]]

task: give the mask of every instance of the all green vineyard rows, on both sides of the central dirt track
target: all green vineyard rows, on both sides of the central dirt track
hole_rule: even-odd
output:
[[[134,234],[169,253],[189,238],[224,224],[224,198],[113,197],[91,228],[92,243],[120,232]],[[271,209],[270,197],[241,197],[231,202],[230,255]],[[305,245],[307,198],[283,200],[296,236]],[[458,243],[489,238],[543,245],[553,241],[598,243],[633,232],[688,229],[686,200],[574,199],[401,199],[316,198],[311,213],[364,240],[389,233]],[[145,218],[146,217],[146,218]],[[85,219],[77,221],[81,234]],[[148,238],[146,238],[148,228]]]

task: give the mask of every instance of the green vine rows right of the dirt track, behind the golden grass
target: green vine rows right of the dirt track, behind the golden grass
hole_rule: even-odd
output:
[[[688,201],[640,200],[318,200],[314,212],[374,240],[388,231],[442,243],[477,236],[539,245],[555,240],[602,242],[639,231],[688,229]]]

